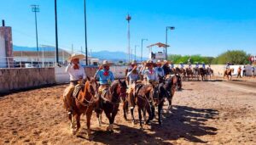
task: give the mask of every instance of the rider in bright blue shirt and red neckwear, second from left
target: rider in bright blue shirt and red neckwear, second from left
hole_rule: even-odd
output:
[[[103,61],[102,66],[97,70],[95,79],[99,78],[100,87],[99,87],[99,97],[102,97],[102,92],[111,85],[114,80],[113,73],[109,70],[111,63],[108,63],[107,60]],[[96,102],[96,109],[100,109],[100,99]]]

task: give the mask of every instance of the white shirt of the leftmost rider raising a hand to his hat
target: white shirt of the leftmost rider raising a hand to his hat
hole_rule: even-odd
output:
[[[66,72],[70,76],[70,81],[78,81],[81,78],[85,79],[86,75],[84,72],[84,68],[79,66],[79,70],[74,70],[73,66],[73,64],[68,64],[66,68]]]

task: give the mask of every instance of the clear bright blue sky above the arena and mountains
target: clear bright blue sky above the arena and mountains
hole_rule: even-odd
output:
[[[13,27],[13,42],[36,46],[34,15],[40,5],[39,44],[55,45],[54,0],[1,0],[0,19]],[[84,0],[58,0],[59,46],[84,47]],[[131,48],[165,42],[168,53],[217,56],[242,49],[255,54],[256,1],[253,0],[86,0],[88,47],[93,52],[127,49],[126,14],[131,14]],[[147,54],[147,48],[144,53]],[[138,51],[139,52],[139,51]],[[140,55],[140,53],[138,53]]]

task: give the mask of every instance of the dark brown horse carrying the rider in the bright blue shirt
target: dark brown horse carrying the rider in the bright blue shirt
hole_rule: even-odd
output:
[[[108,89],[102,92],[100,96],[100,110],[96,110],[96,116],[99,121],[99,125],[102,125],[102,112],[106,114],[109,125],[107,131],[113,131],[113,122],[116,114],[119,110],[120,98],[126,96],[126,82],[125,81],[114,81]]]

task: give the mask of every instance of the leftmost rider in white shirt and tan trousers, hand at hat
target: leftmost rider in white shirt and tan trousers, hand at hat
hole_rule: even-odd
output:
[[[64,96],[67,99],[67,103],[70,103],[67,106],[68,114],[73,112],[73,92],[79,92],[79,84],[82,84],[85,81],[86,75],[84,68],[79,65],[79,59],[84,59],[83,54],[73,53],[68,59],[71,63],[67,65],[66,72],[70,78],[70,85],[65,89]]]

